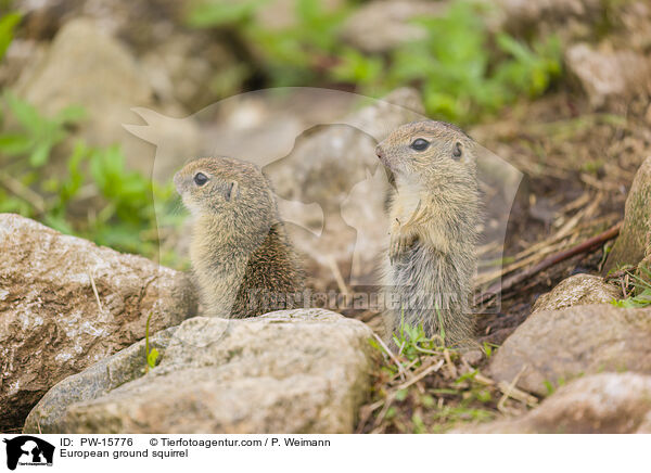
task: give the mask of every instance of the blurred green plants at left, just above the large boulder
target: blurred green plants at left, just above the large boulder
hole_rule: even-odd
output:
[[[71,143],[84,117],[80,107],[43,116],[5,91],[0,117],[0,212],[118,251],[158,255],[156,214],[169,215],[171,183],[129,170],[118,145]]]

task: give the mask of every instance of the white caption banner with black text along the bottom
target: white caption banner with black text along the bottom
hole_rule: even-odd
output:
[[[647,435],[10,435],[0,472],[651,471]]]

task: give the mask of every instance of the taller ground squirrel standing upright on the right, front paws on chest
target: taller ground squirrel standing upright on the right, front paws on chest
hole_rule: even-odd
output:
[[[470,341],[477,144],[454,125],[417,122],[393,131],[375,151],[395,183],[384,267],[385,301],[392,302],[384,314],[387,332],[404,321],[422,324],[429,336],[445,332],[448,345]]]

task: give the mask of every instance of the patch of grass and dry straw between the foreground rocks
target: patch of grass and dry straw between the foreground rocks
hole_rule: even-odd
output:
[[[359,431],[437,433],[499,414],[501,393],[496,385],[486,383],[478,367],[464,362],[460,350],[446,347],[441,335],[429,338],[422,327],[409,327],[403,320],[394,343],[397,348],[390,354],[372,341],[383,362],[371,402],[365,407],[373,409],[372,414],[362,418]],[[492,354],[494,347],[485,344],[484,348]],[[431,371],[421,375],[425,370]],[[515,401],[507,404],[513,408]]]

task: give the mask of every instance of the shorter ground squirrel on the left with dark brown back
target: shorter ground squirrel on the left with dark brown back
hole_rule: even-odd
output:
[[[304,276],[263,172],[251,163],[205,157],[188,163],[174,183],[194,217],[190,259],[206,315],[293,308]]]

